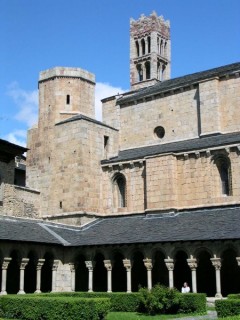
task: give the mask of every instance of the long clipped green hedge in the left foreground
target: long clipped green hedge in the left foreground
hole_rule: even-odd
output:
[[[24,320],[101,320],[110,310],[107,298],[6,295],[0,297],[0,314]]]

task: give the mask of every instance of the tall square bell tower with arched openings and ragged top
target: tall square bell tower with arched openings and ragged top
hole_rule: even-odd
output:
[[[130,84],[138,89],[170,78],[170,22],[153,12],[130,21]]]

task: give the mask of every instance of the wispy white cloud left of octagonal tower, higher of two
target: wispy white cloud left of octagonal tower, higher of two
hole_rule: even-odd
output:
[[[19,111],[15,119],[31,127],[37,122],[38,116],[38,90],[26,91],[19,87],[17,82],[13,82],[7,94],[14,100]]]

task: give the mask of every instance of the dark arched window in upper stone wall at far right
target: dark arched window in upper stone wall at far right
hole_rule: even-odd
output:
[[[225,155],[216,155],[214,157],[214,163],[218,168],[222,194],[230,196],[232,194],[232,174],[230,160]]]

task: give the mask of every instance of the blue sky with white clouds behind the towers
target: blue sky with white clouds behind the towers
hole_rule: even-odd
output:
[[[80,67],[99,100],[129,89],[129,21],[171,23],[172,78],[240,61],[240,0],[0,0],[0,138],[25,145],[39,72]]]

